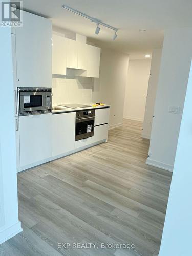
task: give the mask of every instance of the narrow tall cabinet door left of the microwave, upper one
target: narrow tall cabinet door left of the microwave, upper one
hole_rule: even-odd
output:
[[[12,41],[12,61],[13,61],[14,107],[15,107],[15,116],[18,116],[16,45],[15,45],[14,34],[11,34],[11,41]]]

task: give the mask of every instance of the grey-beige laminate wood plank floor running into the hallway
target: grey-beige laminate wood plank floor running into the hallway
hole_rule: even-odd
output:
[[[145,164],[149,141],[141,125],[124,120],[108,143],[18,174],[23,232],[3,243],[0,255],[158,255],[172,175]],[[77,242],[97,244],[72,248]]]

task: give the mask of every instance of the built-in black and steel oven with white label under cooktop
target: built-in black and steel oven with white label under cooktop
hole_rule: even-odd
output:
[[[81,110],[76,112],[75,141],[94,135],[95,110]]]

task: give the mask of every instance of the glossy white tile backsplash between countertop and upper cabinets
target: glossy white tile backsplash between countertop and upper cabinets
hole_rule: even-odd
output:
[[[63,78],[52,78],[52,104],[92,101],[92,78],[75,77],[73,70]]]

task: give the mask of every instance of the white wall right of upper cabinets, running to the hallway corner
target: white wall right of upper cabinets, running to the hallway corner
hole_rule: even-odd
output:
[[[126,54],[101,49],[100,77],[94,79],[92,101],[111,105],[110,127],[122,125],[128,62]]]

